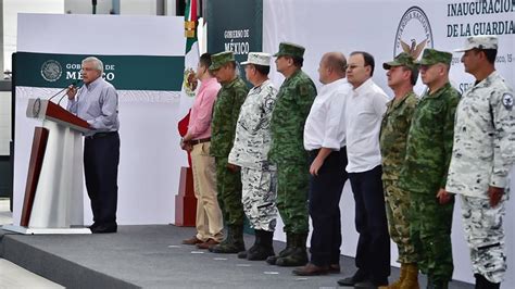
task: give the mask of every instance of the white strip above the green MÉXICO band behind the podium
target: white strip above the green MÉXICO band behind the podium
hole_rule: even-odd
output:
[[[20,14],[17,51],[184,55],[184,28],[178,27],[184,27],[183,17]]]

